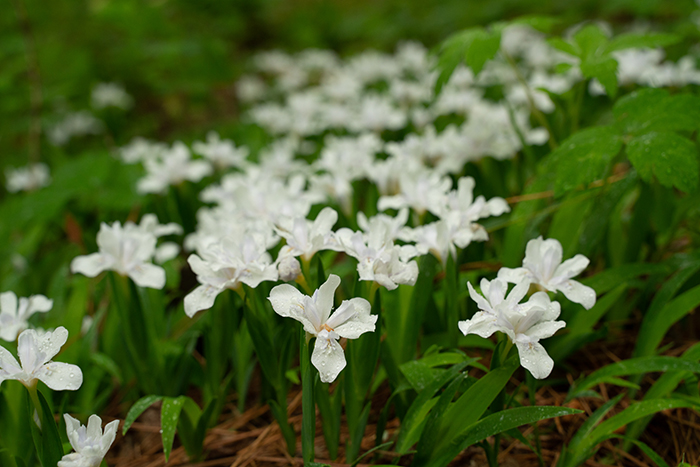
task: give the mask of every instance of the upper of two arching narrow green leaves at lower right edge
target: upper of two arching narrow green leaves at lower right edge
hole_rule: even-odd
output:
[[[700,363],[683,360],[677,357],[639,357],[611,363],[600,370],[594,371],[583,381],[577,383],[569,391],[566,400],[576,397],[578,391],[583,391],[616,376],[627,376],[650,373],[652,371],[692,371],[700,373]]]

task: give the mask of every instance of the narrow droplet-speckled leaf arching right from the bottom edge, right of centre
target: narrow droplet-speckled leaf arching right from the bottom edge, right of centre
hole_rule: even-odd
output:
[[[546,418],[562,417],[580,413],[581,410],[568,407],[517,407],[491,414],[479,420],[450,443],[446,450],[433,459],[431,467],[448,465],[457,455],[469,446],[489,436],[504,433],[522,425],[535,423]]]

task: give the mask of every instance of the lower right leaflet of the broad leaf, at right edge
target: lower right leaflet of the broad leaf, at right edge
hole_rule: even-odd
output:
[[[647,133],[627,144],[627,157],[646,182],[653,177],[667,188],[686,193],[698,187],[698,149],[695,143],[675,133]]]

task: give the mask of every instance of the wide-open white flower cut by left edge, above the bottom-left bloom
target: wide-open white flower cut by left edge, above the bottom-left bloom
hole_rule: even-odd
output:
[[[12,354],[0,346],[0,383],[14,379],[27,387],[41,381],[54,391],[75,391],[83,384],[83,372],[77,365],[53,362],[68,339],[63,326],[55,331],[39,334],[27,329],[17,339],[19,363]]]

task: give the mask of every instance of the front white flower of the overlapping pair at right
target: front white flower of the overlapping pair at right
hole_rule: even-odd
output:
[[[481,280],[479,295],[471,283],[467,283],[469,295],[479,306],[471,319],[460,321],[459,329],[466,336],[477,334],[489,337],[496,331],[506,334],[518,348],[520,364],[537,379],[549,376],[554,361],[539,343],[566,326],[559,317],[560,306],[552,302],[544,292],[533,294],[525,303],[520,301],[528,291],[527,283],[516,285],[507,294],[508,284],[500,279]]]

